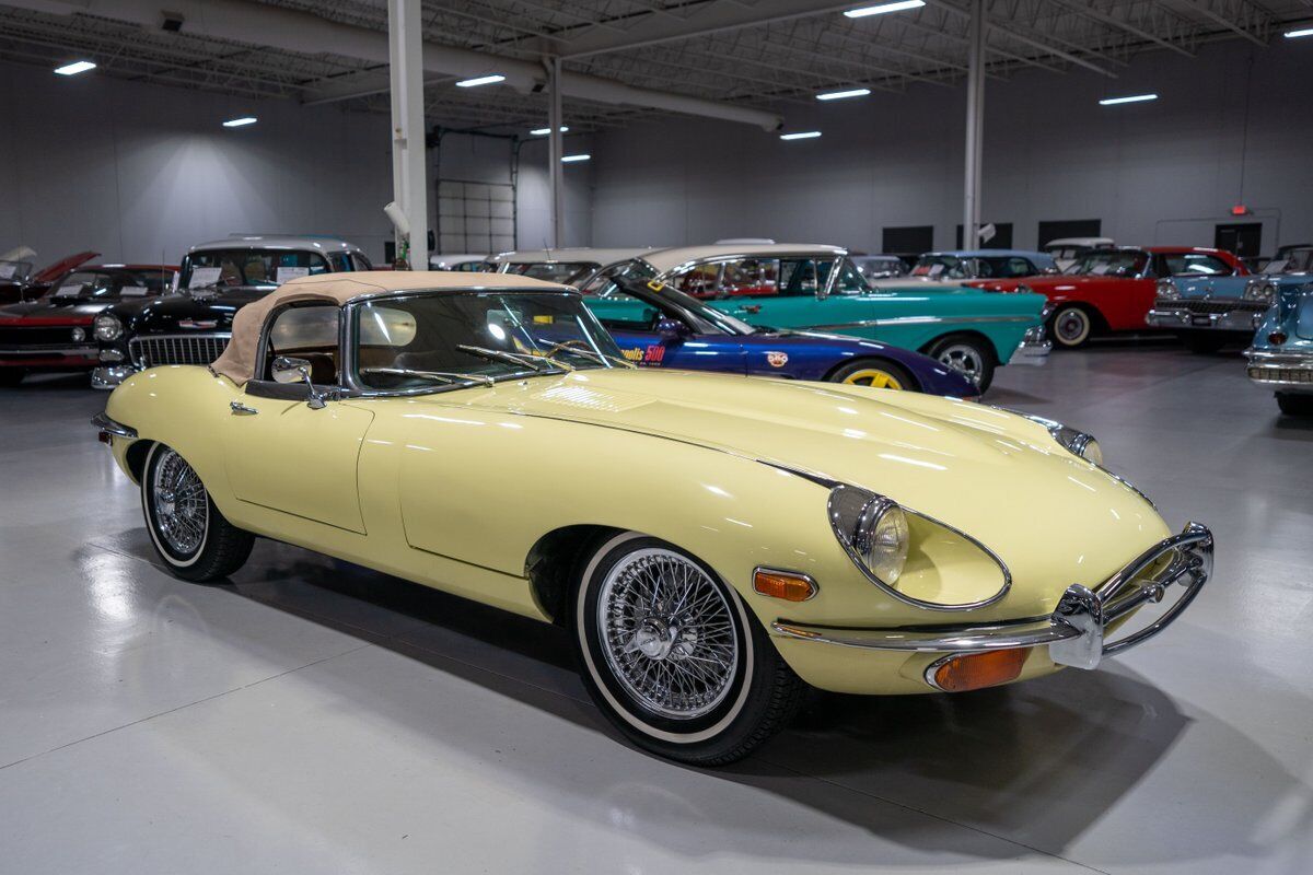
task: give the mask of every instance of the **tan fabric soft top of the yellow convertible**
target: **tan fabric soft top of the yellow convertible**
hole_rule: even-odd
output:
[[[319,300],[341,307],[348,300],[386,295],[394,291],[474,291],[479,289],[572,291],[565,286],[517,274],[458,270],[358,270],[298,277],[236,312],[232,317],[232,340],[228,341],[228,348],[223,350],[223,354],[210,365],[210,369],[215,374],[223,374],[238,386],[244,386],[247,380],[255,379],[260,329],[264,328],[269,314],[282,304]]]

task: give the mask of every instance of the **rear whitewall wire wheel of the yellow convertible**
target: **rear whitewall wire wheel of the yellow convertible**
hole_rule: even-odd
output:
[[[155,552],[177,577],[219,580],[251,555],[253,535],[228,522],[176,450],[151,446],[142,470],[142,510]]]

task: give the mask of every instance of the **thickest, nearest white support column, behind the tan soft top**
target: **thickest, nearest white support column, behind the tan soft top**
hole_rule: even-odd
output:
[[[428,270],[428,172],[424,150],[424,41],[420,0],[387,0],[393,98],[393,199],[410,234],[397,231],[397,253],[410,244],[412,270]]]

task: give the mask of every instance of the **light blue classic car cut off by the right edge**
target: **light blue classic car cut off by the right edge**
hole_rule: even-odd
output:
[[[1291,251],[1280,269],[1258,277],[1272,304],[1245,350],[1247,373],[1281,413],[1313,416],[1313,247]]]

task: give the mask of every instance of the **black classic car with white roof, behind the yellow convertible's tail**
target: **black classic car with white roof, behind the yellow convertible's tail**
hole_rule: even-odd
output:
[[[334,237],[243,235],[192,247],[175,294],[123,300],[96,317],[100,367],[110,390],[155,365],[209,365],[232,337],[232,315],[284,282],[372,270],[360,247]]]

